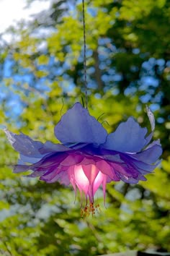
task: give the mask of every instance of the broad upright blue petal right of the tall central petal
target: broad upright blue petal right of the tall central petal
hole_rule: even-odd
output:
[[[146,145],[146,133],[147,129],[141,128],[133,117],[130,117],[107,136],[103,147],[120,152],[139,152]]]

